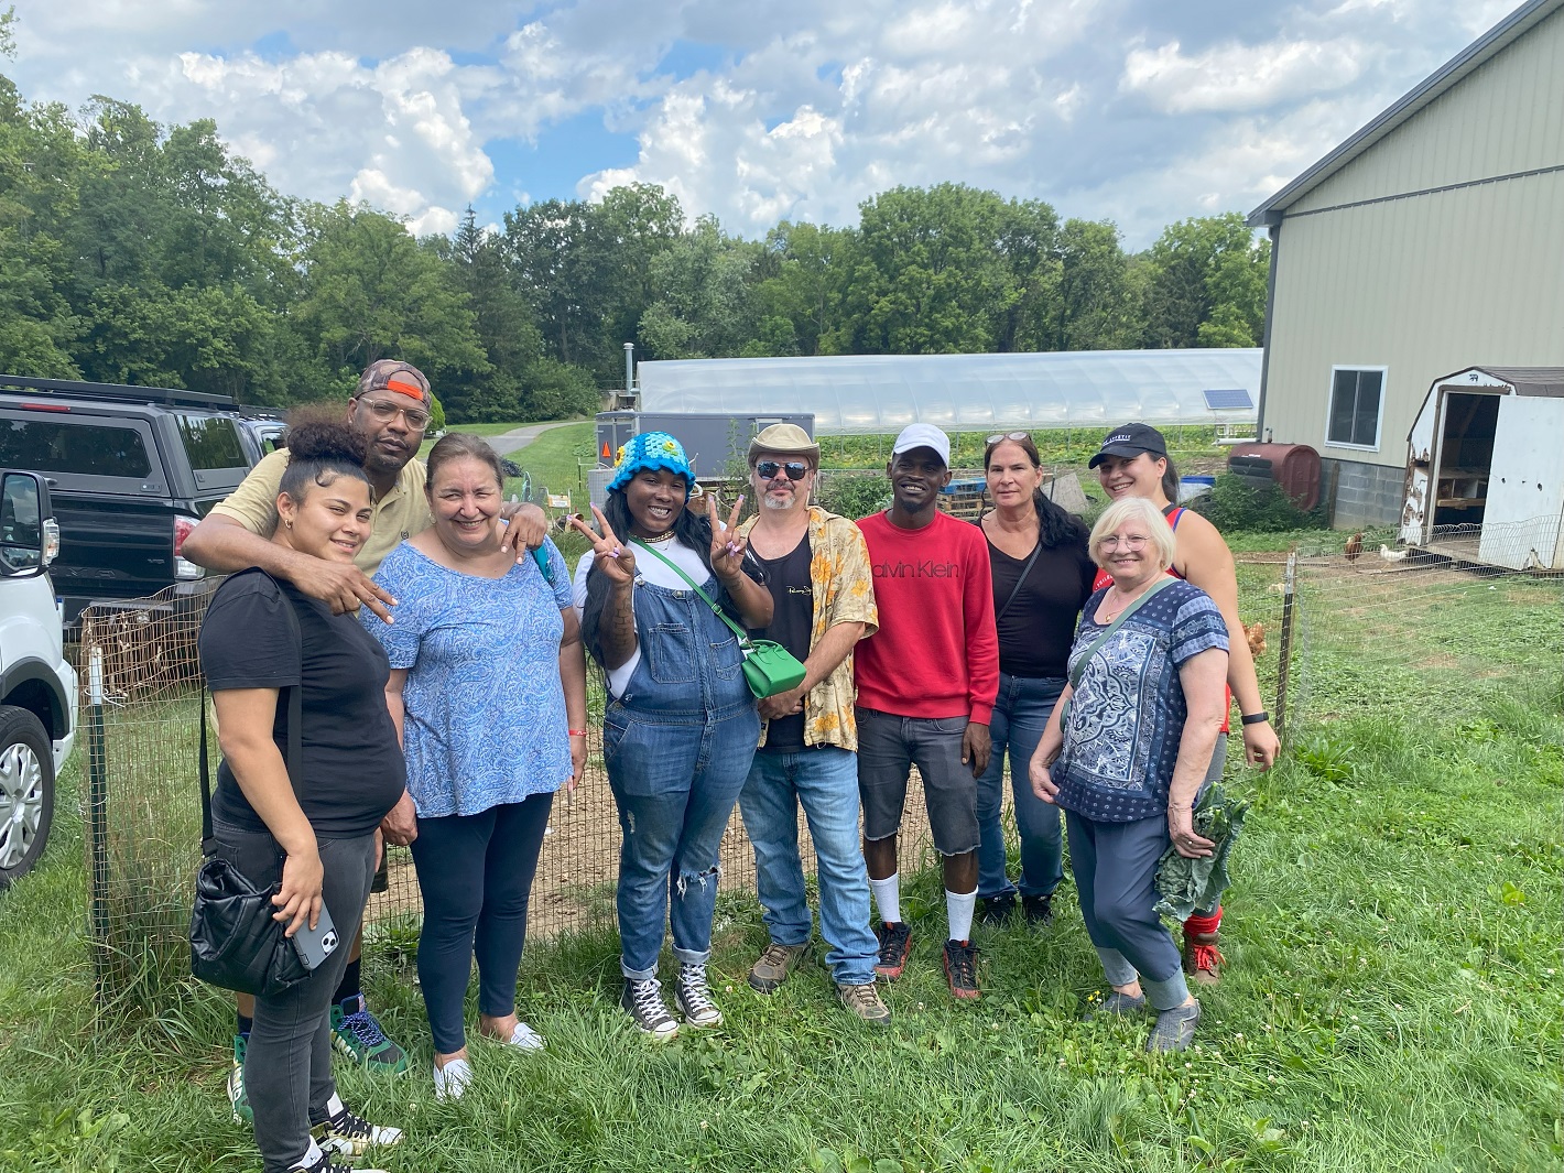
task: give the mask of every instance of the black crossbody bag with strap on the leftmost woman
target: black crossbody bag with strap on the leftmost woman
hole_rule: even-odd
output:
[[[280,596],[288,613],[288,626],[299,641],[303,663],[303,635],[299,615],[288,596]],[[299,793],[303,757],[302,685],[280,690],[288,693],[288,780]],[[282,696],[277,698],[282,704]],[[206,690],[200,698],[200,871],[196,874],[196,904],[191,909],[191,973],[203,982],[225,990],[252,995],[277,995],[310,976],[299,951],[285,935],[286,923],[274,920],[272,896],[282,882],[258,887],[230,860],[216,854],[211,826],[211,776],[206,768]]]

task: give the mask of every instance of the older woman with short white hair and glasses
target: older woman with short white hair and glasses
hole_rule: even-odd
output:
[[[1087,601],[1032,790],[1065,812],[1081,915],[1112,987],[1099,1012],[1150,1003],[1146,1049],[1182,1051],[1200,1003],[1153,912],[1156,871],[1168,845],[1212,851],[1193,805],[1221,727],[1228,627],[1211,596],[1167,574],[1173,530],[1145,497],[1109,505],[1090,549],[1112,585]]]

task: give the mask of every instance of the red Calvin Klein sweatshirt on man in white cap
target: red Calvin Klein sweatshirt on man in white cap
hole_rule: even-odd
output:
[[[881,613],[879,630],[852,649],[859,704],[988,724],[999,693],[999,638],[982,530],[948,513],[921,530],[876,513],[859,529]]]

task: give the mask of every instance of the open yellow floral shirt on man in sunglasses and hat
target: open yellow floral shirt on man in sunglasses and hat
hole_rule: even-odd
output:
[[[746,538],[755,519],[743,522],[738,532]],[[879,630],[879,608],[874,605],[874,579],[863,533],[846,518],[809,507],[809,580],[815,593],[815,626],[809,635],[810,651],[838,622],[862,622],[863,638]],[[852,683],[852,654],[835,671],[804,696],[804,744],[838,746],[857,751],[859,726],[852,716],[857,688]],[[765,744],[765,729],[760,743]]]

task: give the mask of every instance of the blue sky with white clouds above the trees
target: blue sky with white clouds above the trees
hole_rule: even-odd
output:
[[[1248,211],[1511,0],[19,0],[34,100],[213,117],[282,191],[416,231],[662,183],[755,236],[945,180]]]

